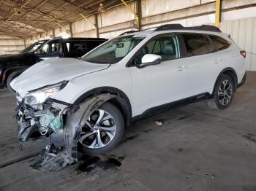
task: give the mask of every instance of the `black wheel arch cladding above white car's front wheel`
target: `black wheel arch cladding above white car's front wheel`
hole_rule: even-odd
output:
[[[105,86],[89,90],[88,92],[80,95],[80,97],[75,100],[74,104],[78,105],[86,98],[89,98],[93,95],[100,95],[102,93],[111,93],[118,95],[115,98],[110,99],[108,102],[110,102],[120,110],[121,114],[124,117],[125,124],[129,126],[132,119],[132,106],[127,95],[122,90],[119,90],[116,87]]]

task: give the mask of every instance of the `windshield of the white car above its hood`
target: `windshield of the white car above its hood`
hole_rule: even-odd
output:
[[[112,39],[81,58],[91,63],[118,63],[144,38],[125,36]]]

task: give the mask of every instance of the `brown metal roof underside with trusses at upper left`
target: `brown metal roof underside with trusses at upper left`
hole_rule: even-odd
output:
[[[26,38],[121,4],[119,0],[0,0],[0,34]]]

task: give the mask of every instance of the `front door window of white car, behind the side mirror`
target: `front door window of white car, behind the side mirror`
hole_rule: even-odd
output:
[[[161,36],[146,44],[140,52],[135,55],[133,65],[140,64],[141,59],[146,54],[156,54],[162,56],[162,61],[170,61],[180,58],[177,35]]]

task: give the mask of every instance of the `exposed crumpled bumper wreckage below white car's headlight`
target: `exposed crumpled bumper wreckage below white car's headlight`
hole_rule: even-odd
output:
[[[39,106],[29,106],[21,101],[16,109],[18,139],[28,141],[40,136],[50,136],[63,131],[63,117],[69,104],[57,104],[48,100]]]

